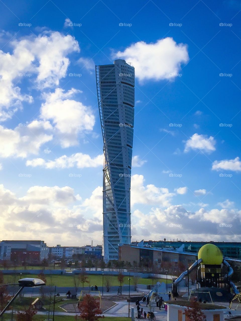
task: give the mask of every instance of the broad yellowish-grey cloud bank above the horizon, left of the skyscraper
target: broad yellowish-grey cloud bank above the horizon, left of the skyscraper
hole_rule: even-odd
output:
[[[7,239],[13,239],[14,234],[17,239],[45,239],[52,245],[69,243],[73,237],[82,243],[91,239],[101,242],[102,220],[94,208],[96,194],[92,193],[90,204],[68,186],[33,186],[26,195],[17,197],[0,185],[0,232]]]

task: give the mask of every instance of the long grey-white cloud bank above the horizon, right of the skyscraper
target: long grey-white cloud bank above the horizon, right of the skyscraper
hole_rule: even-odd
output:
[[[171,205],[166,209],[153,207],[143,213],[136,209],[132,213],[133,239],[178,238],[185,240],[231,241],[240,239],[240,210],[200,208],[187,211],[182,205]],[[147,227],[151,222],[151,230]]]

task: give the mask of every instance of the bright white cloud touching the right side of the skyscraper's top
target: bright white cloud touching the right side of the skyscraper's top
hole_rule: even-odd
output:
[[[131,61],[135,67],[135,76],[143,80],[173,79],[181,64],[189,60],[187,46],[177,44],[173,38],[159,39],[147,44],[139,41],[114,54],[117,59]]]

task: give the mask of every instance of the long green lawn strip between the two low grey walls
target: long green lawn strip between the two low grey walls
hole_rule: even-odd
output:
[[[13,283],[14,282],[14,275],[13,274],[4,274],[5,276],[5,280],[8,281],[8,283]],[[87,274],[88,276],[88,281],[90,283],[84,283],[84,287],[87,287],[90,285],[97,285],[99,288],[101,287],[102,288],[102,275],[96,275],[96,274]],[[25,273],[22,273],[22,278],[34,278],[34,277],[37,277],[36,274],[25,274]],[[72,274],[70,275],[56,275],[56,274],[52,274],[51,276],[49,274],[47,274],[46,276],[46,284],[47,285],[53,285],[53,286],[57,286],[57,287],[73,287],[74,286],[74,282],[73,282],[73,276]],[[18,278],[20,278],[20,274],[19,273],[16,273],[16,280],[18,280]],[[52,278],[52,280],[51,280]],[[117,275],[111,275],[110,276],[111,278],[111,283],[112,283],[112,286],[119,286],[120,283],[118,282],[118,279],[117,279]],[[154,284],[156,284],[156,282],[164,282],[166,283],[166,279],[154,279]],[[139,278],[138,280],[138,283],[139,284],[145,284],[145,285],[148,285],[148,284],[152,284],[152,278]],[[168,283],[172,283],[172,280],[168,280]],[[105,276],[104,276],[104,284],[105,284]],[[129,284],[129,281],[128,281],[128,276],[125,276],[124,277],[124,282],[122,285],[128,285]],[[133,278],[131,277],[131,282],[130,282],[131,285],[133,285]],[[82,283],[79,284],[79,288],[82,287]]]

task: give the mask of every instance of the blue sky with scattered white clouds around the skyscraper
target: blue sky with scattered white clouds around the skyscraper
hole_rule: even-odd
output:
[[[101,244],[94,65],[121,57],[136,73],[133,240],[241,241],[240,1],[0,8],[2,239]]]

